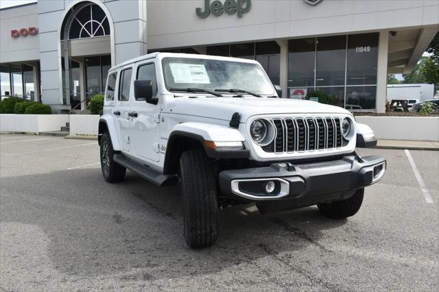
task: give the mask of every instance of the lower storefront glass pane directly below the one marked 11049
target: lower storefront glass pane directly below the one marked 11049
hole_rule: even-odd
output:
[[[375,108],[377,99],[377,86],[347,86],[346,104],[347,110],[371,110]]]

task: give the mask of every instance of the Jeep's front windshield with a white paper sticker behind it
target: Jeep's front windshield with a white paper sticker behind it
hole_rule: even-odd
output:
[[[162,66],[167,90],[176,90],[176,88],[200,88],[211,91],[239,89],[257,95],[274,94],[272,84],[259,64],[209,59],[163,58]]]

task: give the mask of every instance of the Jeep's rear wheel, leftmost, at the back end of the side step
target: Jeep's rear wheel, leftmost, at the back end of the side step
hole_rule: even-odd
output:
[[[123,180],[123,178],[125,178],[126,168],[118,165],[115,160],[112,160],[115,150],[112,149],[108,132],[102,134],[100,154],[102,175],[104,175],[105,180],[107,182],[120,182]]]

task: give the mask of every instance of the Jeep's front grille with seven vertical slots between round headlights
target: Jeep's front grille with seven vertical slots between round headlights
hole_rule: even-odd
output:
[[[276,154],[336,149],[344,146],[341,119],[285,118],[272,119],[275,136],[263,151]]]

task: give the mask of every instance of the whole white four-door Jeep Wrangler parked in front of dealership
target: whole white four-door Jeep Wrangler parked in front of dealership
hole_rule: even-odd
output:
[[[225,206],[355,215],[385,172],[384,158],[355,153],[357,140],[376,142],[373,132],[343,108],[279,91],[253,60],[151,53],[113,67],[99,121],[105,180],[126,169],[158,186],[180,180],[195,248],[215,243]]]

